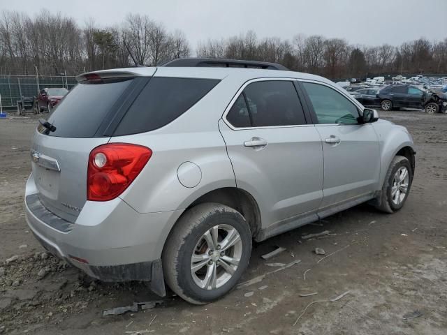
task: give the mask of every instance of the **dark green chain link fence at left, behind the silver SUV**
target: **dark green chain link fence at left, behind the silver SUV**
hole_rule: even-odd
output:
[[[24,98],[34,100],[41,89],[64,87],[70,90],[75,84],[75,77],[65,75],[0,75],[1,105],[4,110],[15,110],[17,103],[22,103]]]

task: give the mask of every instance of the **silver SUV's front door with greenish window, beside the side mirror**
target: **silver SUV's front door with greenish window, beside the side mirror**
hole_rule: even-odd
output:
[[[319,215],[372,198],[379,181],[379,138],[358,124],[358,107],[329,85],[302,82],[323,142],[324,183]]]

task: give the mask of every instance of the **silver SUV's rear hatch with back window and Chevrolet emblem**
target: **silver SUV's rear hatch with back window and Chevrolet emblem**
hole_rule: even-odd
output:
[[[154,71],[147,68],[147,76]],[[126,103],[139,94],[147,77],[105,72],[78,79],[80,83],[64,96],[47,124],[38,126],[31,147],[42,204],[72,223],[87,200],[90,151],[110,140],[110,127],[119,123],[120,113],[129,107]]]

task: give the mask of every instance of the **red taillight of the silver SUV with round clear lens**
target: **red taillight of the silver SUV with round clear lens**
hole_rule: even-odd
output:
[[[110,143],[93,149],[87,170],[87,200],[108,201],[132,183],[152,156],[136,144]]]

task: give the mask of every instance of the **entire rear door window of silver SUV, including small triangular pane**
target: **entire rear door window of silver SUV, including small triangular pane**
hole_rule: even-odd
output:
[[[247,123],[253,127],[306,124],[295,86],[286,80],[249,84],[231,107],[227,120],[235,127]]]

